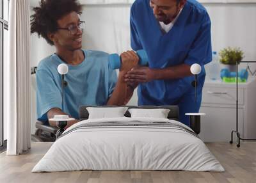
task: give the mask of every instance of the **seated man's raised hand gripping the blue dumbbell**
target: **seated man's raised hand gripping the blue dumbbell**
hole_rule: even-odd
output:
[[[126,74],[129,70],[138,65],[139,57],[134,51],[126,51],[121,54],[121,60],[120,72]]]

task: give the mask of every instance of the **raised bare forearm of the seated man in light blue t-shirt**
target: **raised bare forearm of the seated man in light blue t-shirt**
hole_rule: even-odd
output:
[[[132,97],[133,88],[127,86],[127,83],[124,81],[125,72],[120,72],[118,76],[118,81],[115,86],[115,90],[113,91],[111,97],[108,100],[107,105],[116,105],[122,106],[127,104]]]

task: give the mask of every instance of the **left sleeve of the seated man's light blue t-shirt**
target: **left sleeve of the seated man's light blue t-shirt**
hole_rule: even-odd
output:
[[[61,91],[47,69],[36,70],[36,111],[38,120],[47,121],[47,111],[61,109]]]

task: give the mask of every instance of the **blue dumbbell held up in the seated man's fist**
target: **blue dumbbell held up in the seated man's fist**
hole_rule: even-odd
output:
[[[147,53],[143,49],[138,50],[136,53],[139,56],[139,65],[141,65],[141,66],[147,65],[148,64]],[[108,64],[109,64],[109,67],[112,69],[121,68],[120,56],[118,54],[109,54]]]

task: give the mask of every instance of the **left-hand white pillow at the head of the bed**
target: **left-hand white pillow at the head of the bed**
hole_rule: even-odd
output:
[[[89,113],[89,119],[95,118],[120,118],[125,117],[124,114],[128,107],[86,107]]]

